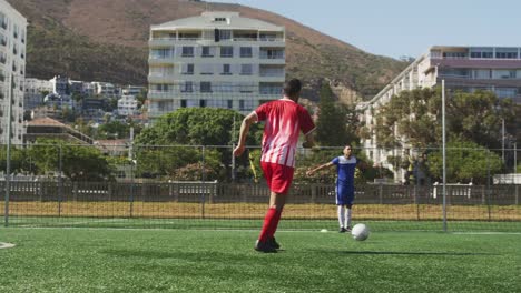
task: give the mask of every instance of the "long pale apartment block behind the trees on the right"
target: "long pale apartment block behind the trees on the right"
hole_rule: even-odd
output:
[[[361,120],[372,131],[374,114],[393,94],[403,90],[441,85],[442,80],[445,80],[446,90],[489,90],[500,99],[510,98],[521,103],[521,48],[431,47],[427,53],[417,58],[371,101],[357,105],[362,112]],[[377,149],[376,143],[373,132],[371,139],[364,140],[362,145],[374,162],[392,169],[386,158],[395,153]]]

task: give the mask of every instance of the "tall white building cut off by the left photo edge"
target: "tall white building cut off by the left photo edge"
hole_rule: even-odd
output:
[[[27,19],[7,1],[0,0],[0,144],[7,143],[11,123],[11,142],[23,142],[23,84],[26,79]],[[14,88],[10,93],[9,81]],[[11,95],[12,103],[9,104]],[[8,117],[11,105],[11,118]]]

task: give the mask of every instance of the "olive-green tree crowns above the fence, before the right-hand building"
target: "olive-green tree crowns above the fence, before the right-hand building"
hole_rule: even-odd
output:
[[[440,145],[442,139],[441,90],[402,91],[376,113],[376,140],[380,148],[403,142],[413,148]],[[446,132],[486,148],[498,148],[501,119],[514,119],[512,101],[492,92],[450,92],[446,98]]]

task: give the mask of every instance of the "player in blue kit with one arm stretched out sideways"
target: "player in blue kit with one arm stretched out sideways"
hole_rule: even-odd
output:
[[[318,165],[306,172],[308,176],[318,170],[336,165],[336,205],[338,206],[338,224],[341,233],[351,231],[351,208],[354,201],[354,178],[357,164],[361,162],[351,154],[351,145],[344,148],[344,155],[336,156],[331,162]]]

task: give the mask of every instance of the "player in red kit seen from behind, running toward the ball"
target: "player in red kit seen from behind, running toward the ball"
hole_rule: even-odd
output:
[[[312,131],[315,124],[307,110],[297,103],[301,88],[299,80],[287,81],[284,84],[282,99],[259,105],[240,124],[238,145],[234,150],[235,156],[243,154],[252,123],[265,121],[260,166],[271,195],[263,229],[255,243],[256,251],[276,252],[279,249],[281,245],[274,235],[293,181],[295,152],[301,131],[306,140],[303,146],[312,148],[314,144]]]

